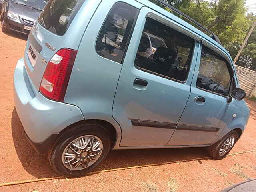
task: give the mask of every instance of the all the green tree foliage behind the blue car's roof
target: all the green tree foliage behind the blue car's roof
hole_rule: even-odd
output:
[[[155,0],[151,1],[155,2]],[[253,21],[256,20],[253,14],[246,16],[246,0],[167,0],[167,2],[214,32],[233,59]],[[256,70],[256,29],[236,64]]]

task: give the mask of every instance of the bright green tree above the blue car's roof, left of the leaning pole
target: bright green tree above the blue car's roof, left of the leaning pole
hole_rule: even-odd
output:
[[[242,43],[250,26],[244,4],[245,0],[190,0],[189,6],[180,9],[214,32],[227,47]]]

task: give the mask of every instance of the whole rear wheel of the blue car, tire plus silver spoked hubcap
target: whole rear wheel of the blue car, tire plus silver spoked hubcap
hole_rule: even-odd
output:
[[[107,157],[110,143],[109,133],[100,125],[75,125],[54,142],[48,152],[50,165],[63,176],[82,176]]]

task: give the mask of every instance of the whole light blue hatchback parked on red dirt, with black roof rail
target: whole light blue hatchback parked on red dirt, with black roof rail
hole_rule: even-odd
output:
[[[145,34],[162,41],[152,55],[141,54]],[[26,137],[64,176],[90,172],[110,149],[207,147],[226,157],[249,108],[212,37],[148,0],[50,0],[14,72]]]

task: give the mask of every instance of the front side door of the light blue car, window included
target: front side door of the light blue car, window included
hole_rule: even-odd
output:
[[[232,121],[236,100],[228,102],[227,96],[234,72],[223,54],[213,48],[200,45],[188,104],[167,145],[213,144]]]

